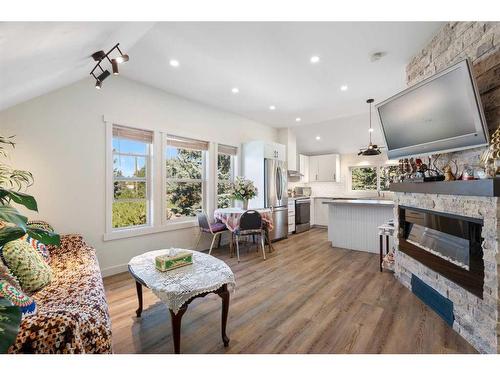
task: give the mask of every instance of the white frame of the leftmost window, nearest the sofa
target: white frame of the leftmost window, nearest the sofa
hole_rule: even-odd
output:
[[[129,237],[131,235],[142,234],[143,232],[150,231],[155,224],[154,220],[154,179],[153,179],[153,168],[155,163],[154,158],[154,143],[156,134],[154,130],[147,128],[134,127],[130,125],[123,125],[118,122],[105,121],[106,125],[106,230],[104,233],[104,240],[111,240],[116,238]],[[135,153],[122,153],[113,151],[113,127],[114,125],[122,126],[131,129],[150,131],[153,134],[153,140],[151,143],[147,144],[146,154],[135,154]],[[114,167],[114,156],[116,154],[122,156],[140,156],[145,158],[146,166],[146,176],[144,178],[120,178],[120,181],[144,181],[146,182],[146,223],[140,225],[131,225],[127,227],[113,227],[113,203],[114,198],[114,182],[116,181],[113,167]],[[124,199],[123,201],[144,201],[142,198],[137,199]]]

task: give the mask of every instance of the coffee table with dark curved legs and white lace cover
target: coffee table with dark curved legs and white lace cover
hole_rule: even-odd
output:
[[[229,291],[235,287],[234,274],[229,266],[211,255],[186,249],[171,249],[173,254],[180,251],[193,253],[193,264],[170,271],[158,271],[154,259],[168,254],[169,249],[156,250],[132,258],[128,269],[135,279],[139,308],[137,317],[142,314],[142,287],[151,291],[164,302],[170,310],[172,335],[175,353],[180,353],[181,320],[188,305],[195,298],[215,293],[222,299],[221,335],[224,346],[229,345],[226,335],[229,312]]]

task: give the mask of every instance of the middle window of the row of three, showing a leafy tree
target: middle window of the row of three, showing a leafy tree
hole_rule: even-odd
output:
[[[208,142],[167,135],[166,219],[193,217],[205,206]]]

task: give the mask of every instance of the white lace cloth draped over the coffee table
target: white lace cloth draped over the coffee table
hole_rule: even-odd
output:
[[[132,258],[129,266],[153,293],[169,309],[177,314],[181,306],[192,297],[205,292],[213,292],[228,284],[234,289],[233,271],[229,266],[211,255],[198,251],[173,249],[174,253],[193,253],[193,264],[171,271],[161,272],[155,267],[155,257],[168,254],[170,250],[155,250]]]

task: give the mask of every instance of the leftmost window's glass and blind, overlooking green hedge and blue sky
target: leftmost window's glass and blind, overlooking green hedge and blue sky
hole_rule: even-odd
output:
[[[153,133],[113,125],[113,229],[151,223],[150,166]]]

